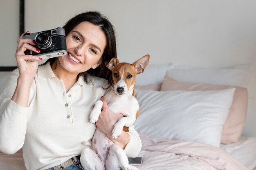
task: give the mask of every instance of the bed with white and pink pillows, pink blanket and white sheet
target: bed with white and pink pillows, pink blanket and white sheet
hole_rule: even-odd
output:
[[[148,65],[137,76],[140,170],[256,170],[256,137],[242,136],[250,65],[205,69]],[[234,78],[236,77],[236,78]],[[3,170],[25,170],[22,150],[0,153]]]

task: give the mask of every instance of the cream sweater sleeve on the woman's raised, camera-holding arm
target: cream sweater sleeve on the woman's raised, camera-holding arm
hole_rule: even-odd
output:
[[[18,70],[14,70],[0,95],[0,150],[16,153],[23,145],[27,129],[29,108],[11,100],[16,88]]]

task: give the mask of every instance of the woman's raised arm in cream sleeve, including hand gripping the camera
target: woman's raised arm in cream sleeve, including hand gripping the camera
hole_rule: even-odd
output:
[[[25,140],[28,118],[28,100],[31,85],[38,68],[40,58],[25,55],[25,50],[38,52],[33,40],[18,39],[16,61],[18,70],[11,73],[6,88],[0,96],[0,150],[13,154],[19,150]],[[27,62],[27,60],[34,60]]]

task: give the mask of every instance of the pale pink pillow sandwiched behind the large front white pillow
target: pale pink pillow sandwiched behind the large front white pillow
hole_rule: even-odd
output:
[[[211,85],[203,83],[188,83],[176,81],[172,78],[165,77],[162,83],[161,91],[168,90],[220,90],[229,89],[236,86],[226,86],[226,85]],[[229,114],[227,116],[226,122],[222,129],[221,143],[230,144],[237,142],[240,138],[243,127],[246,120],[248,104],[248,90],[243,87],[236,87],[233,102],[229,109]]]

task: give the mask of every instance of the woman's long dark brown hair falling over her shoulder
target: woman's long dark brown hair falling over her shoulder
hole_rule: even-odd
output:
[[[91,76],[97,76],[105,78],[108,80],[108,84],[112,85],[112,74],[111,71],[106,68],[105,61],[110,61],[112,58],[117,57],[117,48],[116,48],[116,37],[115,37],[115,28],[110,23],[108,18],[103,16],[97,11],[89,11],[85,13],[80,13],[73,18],[71,18],[64,26],[65,34],[68,35],[74,27],[76,27],[81,22],[88,21],[95,26],[99,26],[101,30],[105,33],[107,38],[106,48],[101,56],[101,64],[95,68],[90,68],[86,72],[82,72],[79,75],[83,75],[86,83],[91,82]],[[51,65],[56,61],[56,58],[48,59],[44,64],[50,62]],[[56,63],[57,64],[57,63]]]

